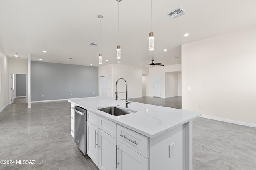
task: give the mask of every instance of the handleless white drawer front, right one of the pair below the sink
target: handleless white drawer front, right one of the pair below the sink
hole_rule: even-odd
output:
[[[116,139],[116,123],[99,116],[99,129]]]

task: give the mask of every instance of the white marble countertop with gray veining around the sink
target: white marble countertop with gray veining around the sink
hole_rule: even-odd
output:
[[[136,113],[114,116],[100,111],[98,108],[110,106],[125,108],[125,100],[116,101],[112,98],[96,97],[72,99],[68,102],[150,138],[161,135],[202,115],[195,111],[132,102],[128,109],[137,111]]]

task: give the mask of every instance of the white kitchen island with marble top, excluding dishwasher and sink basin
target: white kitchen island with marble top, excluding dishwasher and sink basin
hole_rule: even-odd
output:
[[[202,114],[132,102],[135,113],[114,116],[98,109],[126,109],[124,100],[68,101],[87,110],[87,154],[100,169],[192,170],[192,120]]]

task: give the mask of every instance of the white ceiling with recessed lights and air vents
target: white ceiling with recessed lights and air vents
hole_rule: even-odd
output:
[[[148,50],[150,0],[122,0],[118,44],[116,0],[0,0],[0,48],[8,57],[32,61],[100,66],[103,64],[181,63],[181,45],[256,25],[255,0],[152,0],[155,50]],[[187,14],[166,14],[181,7]],[[101,44],[90,47],[90,43]],[[184,37],[189,33],[188,37]],[[121,45],[121,59],[116,46]],[[164,49],[167,49],[165,52]],[[43,53],[42,51],[46,51]],[[174,57],[178,56],[178,59]],[[74,60],[68,60],[68,58]],[[106,61],[108,59],[108,61]]]

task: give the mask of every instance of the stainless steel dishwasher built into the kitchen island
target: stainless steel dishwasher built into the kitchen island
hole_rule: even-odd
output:
[[[75,106],[75,143],[86,154],[86,109]]]

